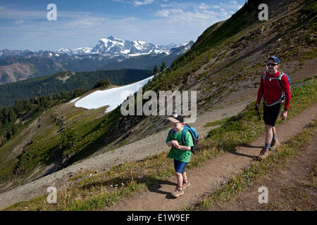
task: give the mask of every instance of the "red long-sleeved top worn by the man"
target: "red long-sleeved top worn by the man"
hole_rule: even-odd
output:
[[[266,103],[268,103],[268,105],[271,105],[272,103],[275,103],[275,101],[278,101],[278,98],[282,96],[282,90],[283,90],[286,97],[284,109],[288,110],[288,108],[290,107],[291,94],[290,94],[290,84],[288,82],[286,75],[282,76],[282,79],[281,79],[282,90],[281,90],[280,85],[278,84],[278,79],[270,80],[270,77],[278,77],[278,75],[280,74],[280,71],[276,72],[275,75],[271,75],[268,72],[268,74],[266,75],[266,79],[264,80],[264,83],[263,83],[262,77],[264,74],[265,72],[263,72],[263,74],[261,75],[261,82],[260,82],[260,86],[258,90],[258,97],[256,98],[256,103],[260,104],[262,93],[263,93],[263,97],[266,100]],[[264,87],[264,92],[263,92],[263,87]]]

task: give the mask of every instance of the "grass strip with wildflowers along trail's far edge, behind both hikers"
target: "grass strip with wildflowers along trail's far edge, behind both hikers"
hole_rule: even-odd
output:
[[[297,83],[292,91],[288,117],[294,117],[316,102],[316,87],[316,77]],[[223,125],[211,130],[209,136],[200,142],[199,153],[192,155],[188,169],[198,167],[216,155],[253,141],[263,133],[264,127],[254,112],[254,103],[249,104],[239,115],[218,123]],[[160,153],[137,162],[121,164],[99,174],[78,174],[70,179],[69,182],[73,182],[70,188],[58,192],[56,205],[47,204],[46,196],[42,196],[15,204],[7,210],[101,210],[136,191],[159,188],[160,184],[174,175],[173,163],[166,155],[167,153]],[[89,173],[93,175],[85,178]],[[121,183],[124,186],[121,186]],[[119,186],[115,187],[116,184]]]

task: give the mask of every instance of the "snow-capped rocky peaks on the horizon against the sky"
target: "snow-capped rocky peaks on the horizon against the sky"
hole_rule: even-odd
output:
[[[192,41],[187,42],[185,44],[174,44],[171,43],[168,46],[159,46],[155,44],[151,44],[146,41],[128,41],[116,39],[113,36],[108,38],[101,38],[97,45],[94,47],[82,47],[77,49],[59,49],[57,53],[66,53],[70,56],[76,55],[87,55],[87,54],[101,54],[107,56],[139,56],[139,55],[147,55],[150,53],[166,53],[170,54],[171,49],[187,46],[187,50],[192,46]]]

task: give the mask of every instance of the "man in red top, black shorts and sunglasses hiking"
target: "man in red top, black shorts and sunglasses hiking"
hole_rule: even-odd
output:
[[[278,119],[282,102],[285,98],[284,110],[282,110],[281,118],[285,120],[287,111],[290,107],[290,83],[287,76],[278,71],[280,60],[271,56],[268,58],[268,72],[263,72],[261,82],[256,99],[256,106],[259,108],[261,98],[263,98],[263,120],[266,126],[266,141],[262,148],[259,158],[266,158],[269,150],[274,150],[279,141],[276,137],[275,122]],[[280,78],[280,80],[279,80]]]

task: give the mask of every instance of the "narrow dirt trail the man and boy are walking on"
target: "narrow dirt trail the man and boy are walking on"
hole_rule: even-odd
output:
[[[285,124],[276,127],[280,143],[292,138],[304,129],[312,120],[316,119],[317,103],[306,108],[302,113],[287,119]],[[280,119],[279,119],[280,120]],[[183,207],[192,205],[203,199],[204,195],[216,191],[220,184],[229,181],[233,175],[239,174],[251,165],[254,155],[259,155],[263,148],[265,134],[251,142],[247,147],[236,148],[235,152],[227,152],[194,169],[187,169],[187,177],[191,185],[185,189],[185,194],[174,198],[170,192],[175,189],[176,178],[172,177],[163,181],[160,188],[139,192],[132,197],[125,198],[113,207],[104,210],[127,210],[127,211],[178,211]],[[172,162],[171,162],[172,163]]]

